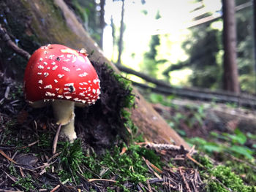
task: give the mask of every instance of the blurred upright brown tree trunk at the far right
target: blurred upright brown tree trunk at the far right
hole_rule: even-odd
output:
[[[236,64],[236,16],[235,0],[222,0],[224,74],[223,87],[226,91],[240,92],[238,67]]]

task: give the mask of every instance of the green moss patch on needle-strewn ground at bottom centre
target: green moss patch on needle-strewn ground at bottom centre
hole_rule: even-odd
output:
[[[124,145],[124,147],[127,147]],[[102,179],[110,179],[115,176],[116,185],[124,188],[124,182],[129,183],[145,183],[148,179],[148,168],[143,161],[143,157],[151,161],[152,164],[162,166],[153,150],[148,150],[139,145],[130,145],[124,154],[120,155],[122,147],[113,147],[107,151],[105,155],[86,155],[83,158],[83,164],[91,171],[84,172],[86,178],[100,175]]]

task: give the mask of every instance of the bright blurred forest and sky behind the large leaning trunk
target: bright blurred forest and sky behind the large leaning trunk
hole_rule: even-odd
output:
[[[189,7],[188,10],[186,9],[190,14],[189,22],[187,26],[182,27],[171,26],[172,20],[176,20],[175,17],[179,18],[181,15],[172,9],[175,4],[168,4],[165,1],[162,2],[162,7],[153,10],[148,8],[154,6],[151,1],[124,1],[124,20],[121,20],[122,1],[73,0],[67,3],[78,12],[91,36],[103,47],[105,54],[114,63],[165,80],[171,85],[212,90],[223,88],[221,1],[182,1],[176,4],[177,9],[182,5]],[[105,7],[102,4],[105,4]],[[169,15],[166,13],[168,9],[170,9]],[[236,9],[239,82],[242,91],[255,93],[252,3],[236,0]],[[150,18],[148,20],[152,23],[151,29],[148,29],[148,23],[144,26],[149,32],[140,32],[138,22],[132,23],[131,20],[134,18],[129,19],[131,15],[137,18]],[[208,17],[211,20],[208,20]],[[170,26],[163,28],[157,25],[163,22],[168,25],[166,20],[169,21]],[[198,20],[203,22],[193,24]],[[102,28],[105,28],[104,35]],[[142,36],[145,37],[140,38]],[[132,80],[143,82],[138,77],[132,77]]]

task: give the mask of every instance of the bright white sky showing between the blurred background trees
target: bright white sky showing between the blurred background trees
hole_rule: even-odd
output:
[[[140,0],[125,0],[124,12],[124,52],[122,61],[124,65],[132,66],[139,70],[138,64],[143,59],[143,53],[148,51],[149,41],[153,34],[170,34],[170,42],[173,43],[172,55],[168,58],[175,62],[182,56],[181,41],[188,34],[186,26],[198,12],[191,12],[200,4],[191,4],[191,0],[146,0],[141,4]],[[206,12],[216,12],[221,9],[221,0],[204,0]],[[143,10],[148,12],[143,14]],[[162,18],[155,19],[157,11]],[[121,1],[106,0],[105,22],[110,25],[113,15],[114,23],[118,27],[121,20]],[[119,30],[116,28],[116,30]],[[116,31],[118,34],[118,31]],[[105,28],[103,50],[108,58],[113,55],[111,28]],[[131,54],[135,53],[135,58]],[[117,54],[117,53],[116,53]],[[114,55],[116,58],[116,55]]]

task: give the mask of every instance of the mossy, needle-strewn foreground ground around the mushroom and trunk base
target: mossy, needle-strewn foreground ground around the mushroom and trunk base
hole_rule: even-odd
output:
[[[56,155],[51,153],[56,126],[50,118],[50,109],[31,109],[23,100],[20,85],[1,76],[1,98],[8,86],[10,93],[7,99],[1,100],[0,149],[3,153],[0,169],[3,172],[0,188],[50,191],[59,185],[57,191],[149,191],[149,188],[151,191],[181,191],[181,187],[188,191],[188,185],[191,191],[256,191],[253,164],[231,160],[217,164],[199,153],[191,159],[182,150],[138,145],[143,139],[131,136],[136,128],[129,120],[129,112],[124,110],[133,106],[128,84],[121,77],[115,77],[107,66],[97,68],[97,64],[94,65],[106,83],[102,86],[102,101],[94,106],[95,113],[91,109],[76,111],[80,139],[73,144],[60,140]],[[112,90],[108,89],[107,82]],[[113,96],[110,98],[108,91],[114,93],[116,100]],[[111,102],[114,110],[107,110],[110,100],[121,103],[112,106]],[[105,111],[109,119],[96,118],[97,109]],[[87,121],[83,121],[84,118]],[[100,121],[101,125],[108,119],[105,124],[113,126],[106,127],[111,139],[106,139],[107,133],[102,128],[96,132],[102,134],[101,137],[94,135],[90,128],[92,123],[86,123],[84,128],[83,122],[88,119]],[[129,139],[124,142],[124,138]]]

